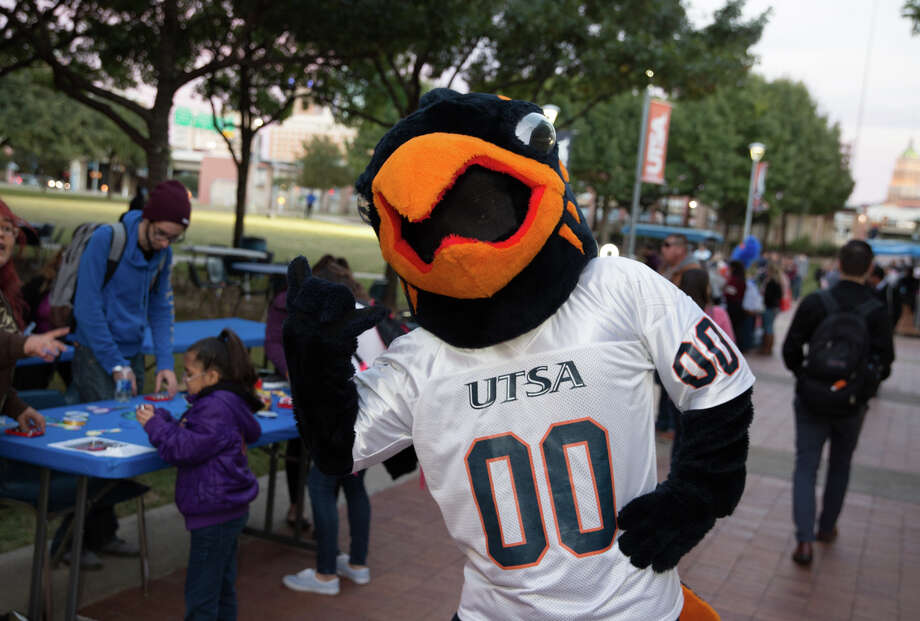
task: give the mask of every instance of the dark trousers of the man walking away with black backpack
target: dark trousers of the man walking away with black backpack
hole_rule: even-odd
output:
[[[824,499],[818,530],[830,532],[837,524],[843,499],[850,482],[850,460],[866,408],[859,414],[837,418],[810,414],[798,398],[795,408],[795,473],[792,477],[792,517],[798,541],[815,540],[815,482],[824,442],[830,439],[831,450],[824,484]]]

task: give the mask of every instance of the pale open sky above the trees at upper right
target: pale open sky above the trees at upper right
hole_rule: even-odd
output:
[[[687,11],[703,24],[723,4],[687,0]],[[920,35],[911,36],[902,5],[903,0],[748,0],[745,6],[746,17],[772,8],[753,48],[754,71],[803,82],[819,111],[840,124],[843,140],[854,143],[850,204],[883,201],[908,141],[913,138],[920,149]]]

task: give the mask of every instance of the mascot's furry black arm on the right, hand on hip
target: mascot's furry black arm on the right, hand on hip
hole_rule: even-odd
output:
[[[744,491],[751,390],[727,403],[680,416],[680,445],[666,481],[617,516],[620,551],[658,572],[677,565]]]

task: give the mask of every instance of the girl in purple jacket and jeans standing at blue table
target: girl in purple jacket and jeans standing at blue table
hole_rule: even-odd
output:
[[[178,467],[176,506],[191,531],[185,619],[236,619],[237,539],[259,484],[246,445],[262,433],[262,408],[249,353],[232,330],[198,341],[185,353],[191,407],[179,420],[163,408],[138,406],[137,420],[166,462]]]

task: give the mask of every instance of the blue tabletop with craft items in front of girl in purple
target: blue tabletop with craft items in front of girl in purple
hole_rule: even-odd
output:
[[[38,466],[47,466],[59,472],[83,474],[103,479],[121,479],[169,468],[169,464],[160,459],[156,452],[124,458],[102,457],[83,451],[49,446],[49,444],[64,440],[86,437],[86,432],[92,429],[112,428],[120,428],[121,431],[104,433],[97,437],[150,446],[150,442],[147,440],[147,432],[144,431],[141,424],[133,417],[125,418],[122,416],[125,412],[133,414],[135,407],[139,403],[147,402],[144,401],[143,397],[135,397],[128,403],[100,401],[92,404],[112,408],[110,412],[105,414],[93,414],[86,408],[90,404],[45,409],[42,413],[49,421],[63,419],[64,415],[70,411],[86,412],[89,414],[89,419],[85,426],[75,431],[49,425],[45,430],[45,435],[37,438],[11,436],[0,432],[0,457],[24,461]],[[181,393],[177,394],[171,401],[163,401],[153,405],[166,408],[176,417],[181,415],[188,407],[184,395]],[[297,425],[294,420],[293,410],[279,408],[278,397],[272,397],[272,411],[278,414],[277,418],[256,417],[262,426],[262,437],[251,446],[272,444],[297,437]],[[7,419],[7,426],[11,426],[11,423],[12,421]]]

